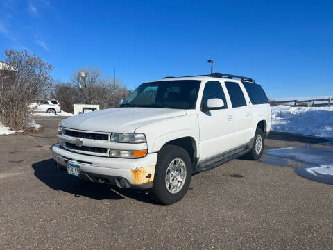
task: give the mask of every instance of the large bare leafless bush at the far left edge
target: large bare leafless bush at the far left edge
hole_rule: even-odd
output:
[[[52,65],[26,50],[4,52],[0,70],[0,119],[12,129],[26,128],[29,103],[51,88]]]

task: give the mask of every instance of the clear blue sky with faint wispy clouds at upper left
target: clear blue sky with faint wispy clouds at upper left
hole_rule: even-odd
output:
[[[332,1],[0,3],[0,51],[27,49],[69,81],[101,67],[128,88],[162,76],[240,74],[268,97],[333,95]]]

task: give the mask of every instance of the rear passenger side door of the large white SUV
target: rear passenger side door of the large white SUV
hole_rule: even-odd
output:
[[[234,117],[234,142],[236,147],[250,142],[252,133],[252,109],[246,104],[244,92],[239,83],[225,81],[232,104]]]

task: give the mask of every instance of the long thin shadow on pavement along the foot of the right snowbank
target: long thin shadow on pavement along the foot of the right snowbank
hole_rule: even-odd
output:
[[[275,131],[271,131],[269,133],[268,139],[284,140],[284,141],[289,141],[289,142],[303,142],[303,143],[309,143],[309,144],[330,142],[330,140],[325,139],[325,138],[318,138],[318,137],[307,136],[307,135],[296,135],[296,134],[291,134],[291,133],[275,132]]]

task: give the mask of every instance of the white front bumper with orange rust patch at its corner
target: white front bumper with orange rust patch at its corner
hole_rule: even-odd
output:
[[[151,188],[153,186],[157,153],[148,153],[143,158],[125,159],[101,156],[87,156],[64,149],[59,144],[52,147],[53,160],[66,169],[67,163],[80,166],[81,177],[89,181],[119,185],[121,179],[126,187],[121,188]],[[101,182],[101,181],[100,181]]]

